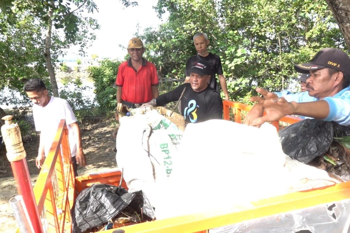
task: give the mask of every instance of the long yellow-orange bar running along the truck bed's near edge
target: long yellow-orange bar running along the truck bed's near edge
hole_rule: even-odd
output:
[[[252,208],[208,211],[153,222],[118,228],[125,233],[199,232],[227,226],[241,221],[272,216],[293,210],[300,210],[320,204],[350,199],[350,181],[328,188],[294,192],[253,202]],[[112,233],[116,229],[104,231]]]

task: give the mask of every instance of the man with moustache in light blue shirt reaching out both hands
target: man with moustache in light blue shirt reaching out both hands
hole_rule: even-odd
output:
[[[306,80],[307,92],[278,97],[262,88],[256,91],[264,96],[254,96],[256,101],[244,123],[260,126],[286,115],[301,115],[350,125],[350,58],[339,49],[322,49],[309,63],[294,65],[297,72],[310,73]],[[316,98],[316,101],[312,99]],[[263,112],[265,116],[262,116]]]

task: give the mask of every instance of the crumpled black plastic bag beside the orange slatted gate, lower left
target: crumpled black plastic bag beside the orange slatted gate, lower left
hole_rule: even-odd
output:
[[[109,184],[93,184],[78,195],[73,219],[73,232],[85,232],[90,228],[107,223],[125,207],[131,205],[138,214],[153,219],[153,207],[142,191],[128,192],[126,189]]]

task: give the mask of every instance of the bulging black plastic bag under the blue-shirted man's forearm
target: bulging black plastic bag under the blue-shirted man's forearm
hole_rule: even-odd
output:
[[[333,123],[305,119],[278,132],[283,152],[292,159],[308,163],[329,149],[333,140]]]

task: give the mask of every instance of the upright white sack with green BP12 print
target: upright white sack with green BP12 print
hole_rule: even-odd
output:
[[[183,117],[181,116],[183,119]],[[129,191],[142,190],[157,207],[163,184],[172,175],[183,132],[155,109],[120,118],[116,161]]]

